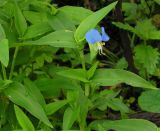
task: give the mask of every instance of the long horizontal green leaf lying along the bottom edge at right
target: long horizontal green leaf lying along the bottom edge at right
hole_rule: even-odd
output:
[[[116,121],[97,120],[90,124],[94,130],[102,126],[106,130],[112,129],[116,131],[157,131],[157,126],[150,121],[142,119],[123,119]]]

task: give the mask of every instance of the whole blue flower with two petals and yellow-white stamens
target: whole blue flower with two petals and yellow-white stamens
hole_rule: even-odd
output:
[[[101,33],[98,32],[96,29],[89,30],[86,35],[86,41],[89,44],[96,44],[97,50],[99,51],[99,54],[103,54],[103,46],[105,45],[105,42],[109,41],[109,36],[106,34],[104,27],[101,27]]]

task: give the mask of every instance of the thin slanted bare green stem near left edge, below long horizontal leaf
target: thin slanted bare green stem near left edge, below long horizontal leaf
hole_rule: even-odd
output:
[[[14,71],[14,66],[15,66],[15,61],[16,61],[16,57],[17,57],[17,54],[18,54],[18,50],[19,50],[19,47],[16,47],[14,55],[13,55],[13,60],[12,60],[10,74],[9,74],[9,79],[12,79],[12,76],[13,76],[13,71]]]

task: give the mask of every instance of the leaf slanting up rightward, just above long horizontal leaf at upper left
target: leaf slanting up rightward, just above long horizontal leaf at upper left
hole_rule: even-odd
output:
[[[38,24],[34,24],[28,27],[26,33],[21,39],[31,39],[37,36],[41,36],[45,33],[52,31],[51,26],[48,22],[42,22]]]

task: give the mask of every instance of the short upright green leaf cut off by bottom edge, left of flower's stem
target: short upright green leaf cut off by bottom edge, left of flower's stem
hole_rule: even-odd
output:
[[[70,107],[68,107],[65,110],[63,116],[63,130],[69,130],[72,127],[73,123],[78,117],[78,113],[79,113],[79,108],[73,110]]]

